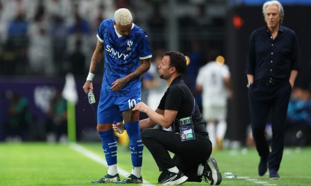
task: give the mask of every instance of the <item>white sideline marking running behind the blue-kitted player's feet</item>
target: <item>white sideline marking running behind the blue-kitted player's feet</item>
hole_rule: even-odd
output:
[[[81,145],[78,145],[77,143],[69,143],[69,146],[74,149],[76,152],[79,152],[80,154],[83,154],[84,156],[90,158],[91,160],[100,163],[104,165],[105,167],[108,167],[106,161],[104,161],[104,158],[97,156],[97,154],[94,154],[93,152],[89,151],[88,149],[82,147]],[[124,169],[121,169],[120,167],[117,167],[117,171],[122,176],[126,177],[128,176],[129,172],[126,172]],[[149,183],[147,180],[143,180],[142,185],[153,185]]]

